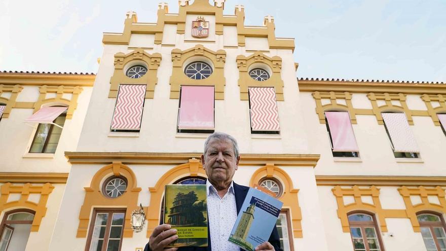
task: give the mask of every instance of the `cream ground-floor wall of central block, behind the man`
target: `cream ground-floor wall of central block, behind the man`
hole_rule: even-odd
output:
[[[60,250],[66,247],[67,243],[72,247],[72,250],[83,250],[85,248],[87,238],[76,238],[80,207],[83,204],[85,196],[84,187],[90,186],[91,178],[102,167],[103,165],[75,164],[71,168],[58,214],[58,221],[54,228],[54,234],[48,250]],[[142,189],[139,193],[138,203],[142,203],[143,206],[149,205],[150,192],[148,192],[148,188],[154,187],[161,176],[173,167],[166,165],[130,165],[130,168],[138,179],[137,187]],[[234,182],[248,186],[250,177],[258,168],[258,166],[239,167],[234,176]],[[292,177],[294,188],[300,189],[298,196],[304,219],[302,221],[304,238],[294,239],[296,250],[328,250],[325,241],[320,239],[320,233],[321,231],[323,232],[324,227],[313,168],[282,168]],[[181,177],[177,178],[179,179]],[[156,207],[159,206],[161,205],[156,205]],[[122,250],[135,250],[136,247],[144,247],[148,241],[145,234],[146,225],[142,232],[134,233],[132,238],[123,239]]]

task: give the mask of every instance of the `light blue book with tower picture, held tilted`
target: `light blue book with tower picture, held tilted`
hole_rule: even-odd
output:
[[[239,247],[254,248],[270,238],[283,203],[258,189],[249,188],[232,228],[229,241]]]

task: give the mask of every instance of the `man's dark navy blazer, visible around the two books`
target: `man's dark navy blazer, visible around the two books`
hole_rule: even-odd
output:
[[[240,212],[240,209],[242,208],[243,201],[245,200],[246,194],[248,193],[249,188],[241,185],[237,185],[234,182],[234,194],[235,194],[235,204],[237,206],[237,214]],[[178,251],[211,251],[211,238],[209,233],[209,227],[208,227],[208,239],[207,247],[180,247],[178,248]],[[273,232],[271,233],[270,239],[268,240],[271,245],[274,246],[274,249],[276,251],[282,251],[282,248],[280,247],[280,239],[279,239],[279,233],[277,232],[277,228],[273,229]],[[240,248],[241,251],[244,249]],[[144,251],[150,251],[150,248],[148,247],[148,243],[145,245]]]

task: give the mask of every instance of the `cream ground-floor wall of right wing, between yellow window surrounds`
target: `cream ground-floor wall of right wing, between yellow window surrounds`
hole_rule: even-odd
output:
[[[353,250],[350,233],[344,233],[338,218],[338,204],[330,186],[318,186],[325,237],[329,251]],[[381,187],[380,201],[383,209],[405,209],[397,187]],[[388,232],[381,232],[385,250],[426,250],[421,233],[413,231],[409,219],[386,219]],[[391,236],[393,235],[393,236]]]

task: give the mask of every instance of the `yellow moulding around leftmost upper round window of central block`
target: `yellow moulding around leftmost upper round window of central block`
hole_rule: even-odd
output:
[[[147,66],[147,73],[139,79],[131,79],[126,76],[124,67],[132,61],[143,61]],[[160,66],[161,54],[148,54],[142,48],[137,48],[128,54],[122,52],[115,54],[115,71],[110,78],[109,98],[118,96],[120,84],[142,84],[146,85],[145,98],[153,98],[155,85],[158,83],[158,66]],[[137,64],[137,63],[136,63]]]

